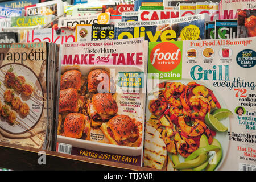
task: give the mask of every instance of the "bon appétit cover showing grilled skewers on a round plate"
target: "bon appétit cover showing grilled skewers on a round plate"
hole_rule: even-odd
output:
[[[0,44],[0,141],[44,149],[48,125],[48,45]]]

